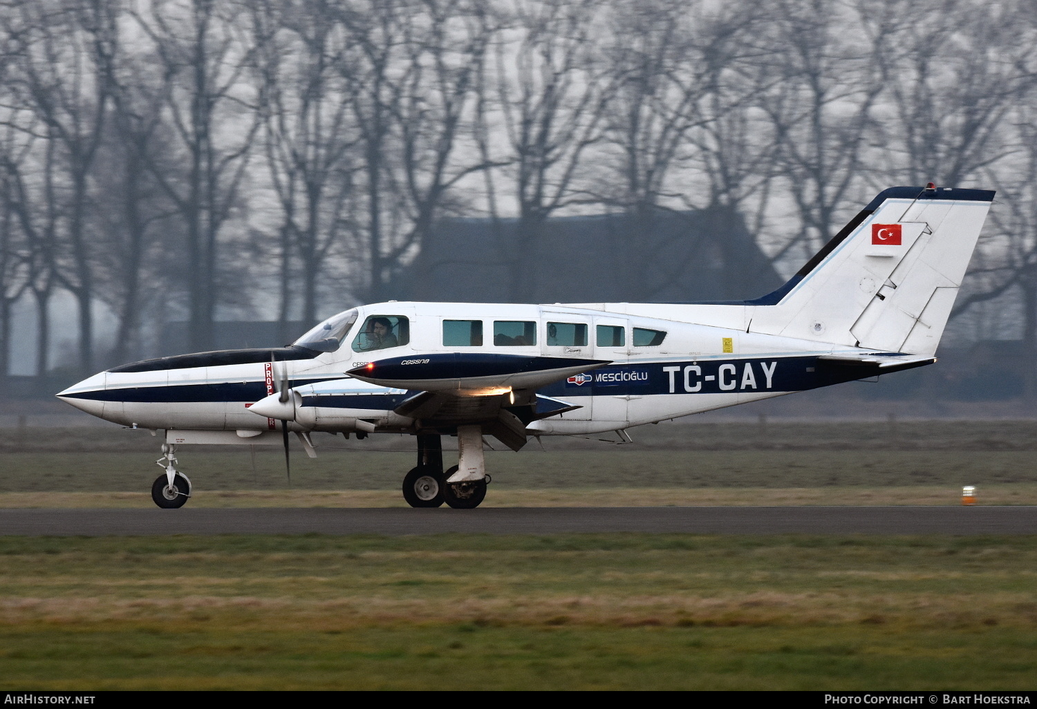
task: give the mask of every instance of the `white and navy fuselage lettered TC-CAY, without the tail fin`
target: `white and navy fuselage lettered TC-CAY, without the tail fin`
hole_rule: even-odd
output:
[[[356,310],[355,323],[334,351],[273,363],[116,368],[59,396],[127,426],[237,431],[248,443],[278,427],[249,408],[273,393],[279,378],[300,397],[290,430],[351,431],[358,430],[358,421],[367,422],[365,430],[412,430],[414,421],[393,409],[415,392],[345,374],[368,362],[410,354],[535,354],[612,363],[541,389],[540,394],[580,408],[533,421],[528,430],[534,434],[622,429],[860,378],[821,376],[813,364],[819,356],[861,348],[747,332],[752,306],[390,302]],[[376,316],[395,323],[399,343],[365,348],[358,331]],[[475,332],[473,322],[484,334],[481,344],[474,336],[458,344],[458,328]],[[526,336],[499,334],[518,332]]]

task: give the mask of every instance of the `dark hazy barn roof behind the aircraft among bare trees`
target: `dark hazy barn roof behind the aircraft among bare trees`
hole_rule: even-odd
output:
[[[725,209],[549,220],[523,238],[514,219],[445,219],[394,284],[398,297],[446,302],[680,302],[752,299],[778,276]]]

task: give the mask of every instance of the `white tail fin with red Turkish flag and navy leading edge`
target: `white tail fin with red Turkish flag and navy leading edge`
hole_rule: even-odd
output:
[[[784,286],[751,332],[932,356],[993,200],[990,190],[884,190]]]

